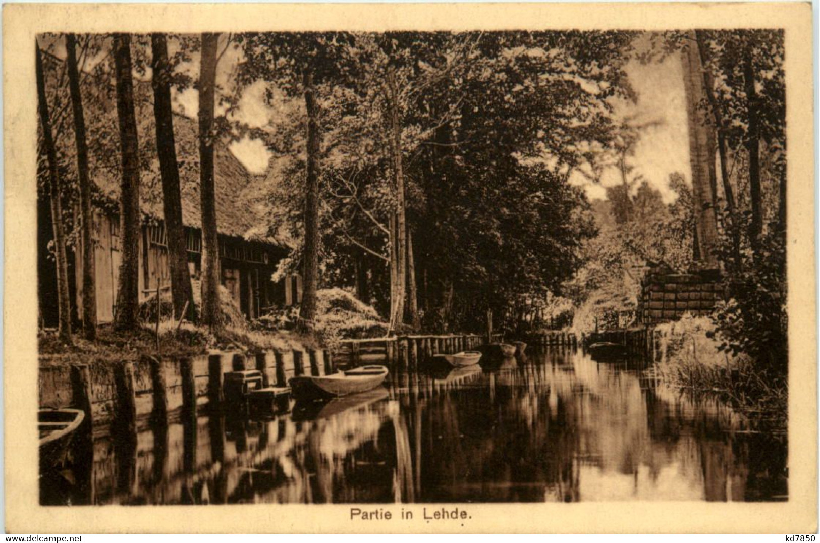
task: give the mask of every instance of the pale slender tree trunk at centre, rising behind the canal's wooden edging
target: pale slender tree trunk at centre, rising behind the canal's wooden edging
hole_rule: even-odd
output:
[[[407,223],[405,221],[404,172],[402,165],[402,128],[399,124],[399,91],[395,73],[387,72],[390,107],[390,154],[393,162],[393,180],[396,190],[396,303],[393,321],[404,322],[404,300],[407,292]]]

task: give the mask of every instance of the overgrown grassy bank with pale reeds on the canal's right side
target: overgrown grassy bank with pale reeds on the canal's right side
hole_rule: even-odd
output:
[[[708,317],[686,315],[655,327],[654,364],[650,376],[693,395],[713,395],[738,412],[769,427],[786,427],[788,386],[785,379],[758,371],[745,354],[720,349]]]

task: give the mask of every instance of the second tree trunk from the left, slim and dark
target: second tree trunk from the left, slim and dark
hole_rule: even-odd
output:
[[[66,63],[71,107],[74,110],[74,139],[77,146],[77,172],[80,181],[80,241],[83,262],[83,335],[93,341],[97,337],[97,296],[95,291],[94,241],[92,236],[91,181],[89,180],[89,147],[85,139],[83,97],[80,94],[80,74],[74,34],[66,34]]]

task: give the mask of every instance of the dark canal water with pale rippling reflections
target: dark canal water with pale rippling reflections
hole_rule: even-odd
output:
[[[93,463],[43,477],[43,504],[786,500],[786,436],[640,364],[530,349],[261,420],[200,415],[98,436]]]

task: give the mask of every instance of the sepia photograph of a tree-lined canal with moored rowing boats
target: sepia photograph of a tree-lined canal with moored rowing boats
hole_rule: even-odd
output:
[[[715,23],[35,31],[37,504],[793,500],[812,173]]]

